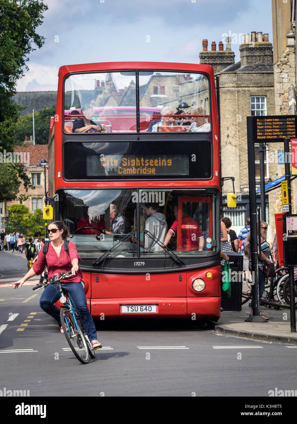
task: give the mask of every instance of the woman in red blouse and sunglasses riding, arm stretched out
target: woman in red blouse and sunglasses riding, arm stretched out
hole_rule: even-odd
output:
[[[78,255],[75,244],[71,241],[69,241],[68,246],[69,256],[67,252],[64,251],[64,240],[66,240],[69,236],[68,228],[64,226],[61,221],[54,221],[48,226],[48,234],[50,237],[50,244],[46,254],[46,262],[44,260],[42,249],[40,249],[37,260],[34,262],[30,271],[28,271],[25,277],[13,283],[13,288],[16,289],[18,287],[22,287],[26,280],[34,275],[41,274],[46,265],[49,277],[58,275],[61,272],[71,271],[72,276],[61,282],[61,286],[67,289],[69,296],[80,315],[83,322],[83,328],[85,329],[93,348],[100,349],[102,346],[97,340],[95,324],[87,307],[83,285],[80,284],[82,273],[78,267],[78,262],[80,262],[81,259]],[[59,297],[60,294],[57,286],[55,284],[48,285],[40,297],[40,307],[44,310],[44,312],[55,318],[58,321],[59,326],[61,326],[60,310],[55,305],[55,302],[58,301]],[[61,332],[63,332],[62,326]]]

